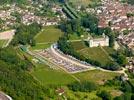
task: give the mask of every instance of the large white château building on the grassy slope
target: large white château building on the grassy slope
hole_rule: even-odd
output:
[[[109,37],[103,35],[102,38],[89,38],[89,47],[109,46]]]

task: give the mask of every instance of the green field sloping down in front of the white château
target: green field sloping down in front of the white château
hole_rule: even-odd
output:
[[[110,62],[111,59],[109,55],[114,53],[114,50],[110,47],[102,47],[103,49],[101,47],[90,48],[82,41],[72,42],[71,44],[77,52],[87,58],[100,62],[102,65]]]

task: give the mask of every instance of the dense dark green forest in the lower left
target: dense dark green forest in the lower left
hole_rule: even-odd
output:
[[[0,49],[0,90],[13,100],[44,100],[46,89],[28,73],[33,65],[13,47]]]

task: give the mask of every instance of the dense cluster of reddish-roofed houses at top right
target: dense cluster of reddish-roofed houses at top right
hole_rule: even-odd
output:
[[[102,0],[102,6],[96,10],[99,27],[110,26],[112,30],[123,32],[134,30],[134,6],[123,4],[119,0]],[[132,16],[128,16],[128,14]]]

